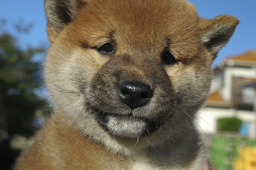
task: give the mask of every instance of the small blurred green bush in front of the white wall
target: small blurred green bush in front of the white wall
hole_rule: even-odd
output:
[[[242,125],[241,119],[237,117],[227,117],[217,120],[218,130],[220,131],[230,131],[230,132],[239,132],[239,129]]]

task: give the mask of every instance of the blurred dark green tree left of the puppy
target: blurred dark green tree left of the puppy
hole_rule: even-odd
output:
[[[49,113],[45,100],[35,94],[42,86],[42,63],[34,62],[33,57],[44,51],[21,50],[12,35],[0,34],[0,124],[10,136],[33,135],[35,111]]]

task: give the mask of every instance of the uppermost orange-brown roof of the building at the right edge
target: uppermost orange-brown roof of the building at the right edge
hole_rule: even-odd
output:
[[[250,50],[244,54],[229,57],[224,60],[227,65],[256,66],[256,50]]]

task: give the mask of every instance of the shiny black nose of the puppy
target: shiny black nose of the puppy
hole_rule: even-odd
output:
[[[152,88],[139,81],[125,81],[119,85],[121,101],[131,109],[144,106],[153,96]]]

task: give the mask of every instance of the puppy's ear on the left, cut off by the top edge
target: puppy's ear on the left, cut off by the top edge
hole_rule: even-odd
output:
[[[70,23],[88,0],[45,0],[47,32],[53,42],[59,31]]]

